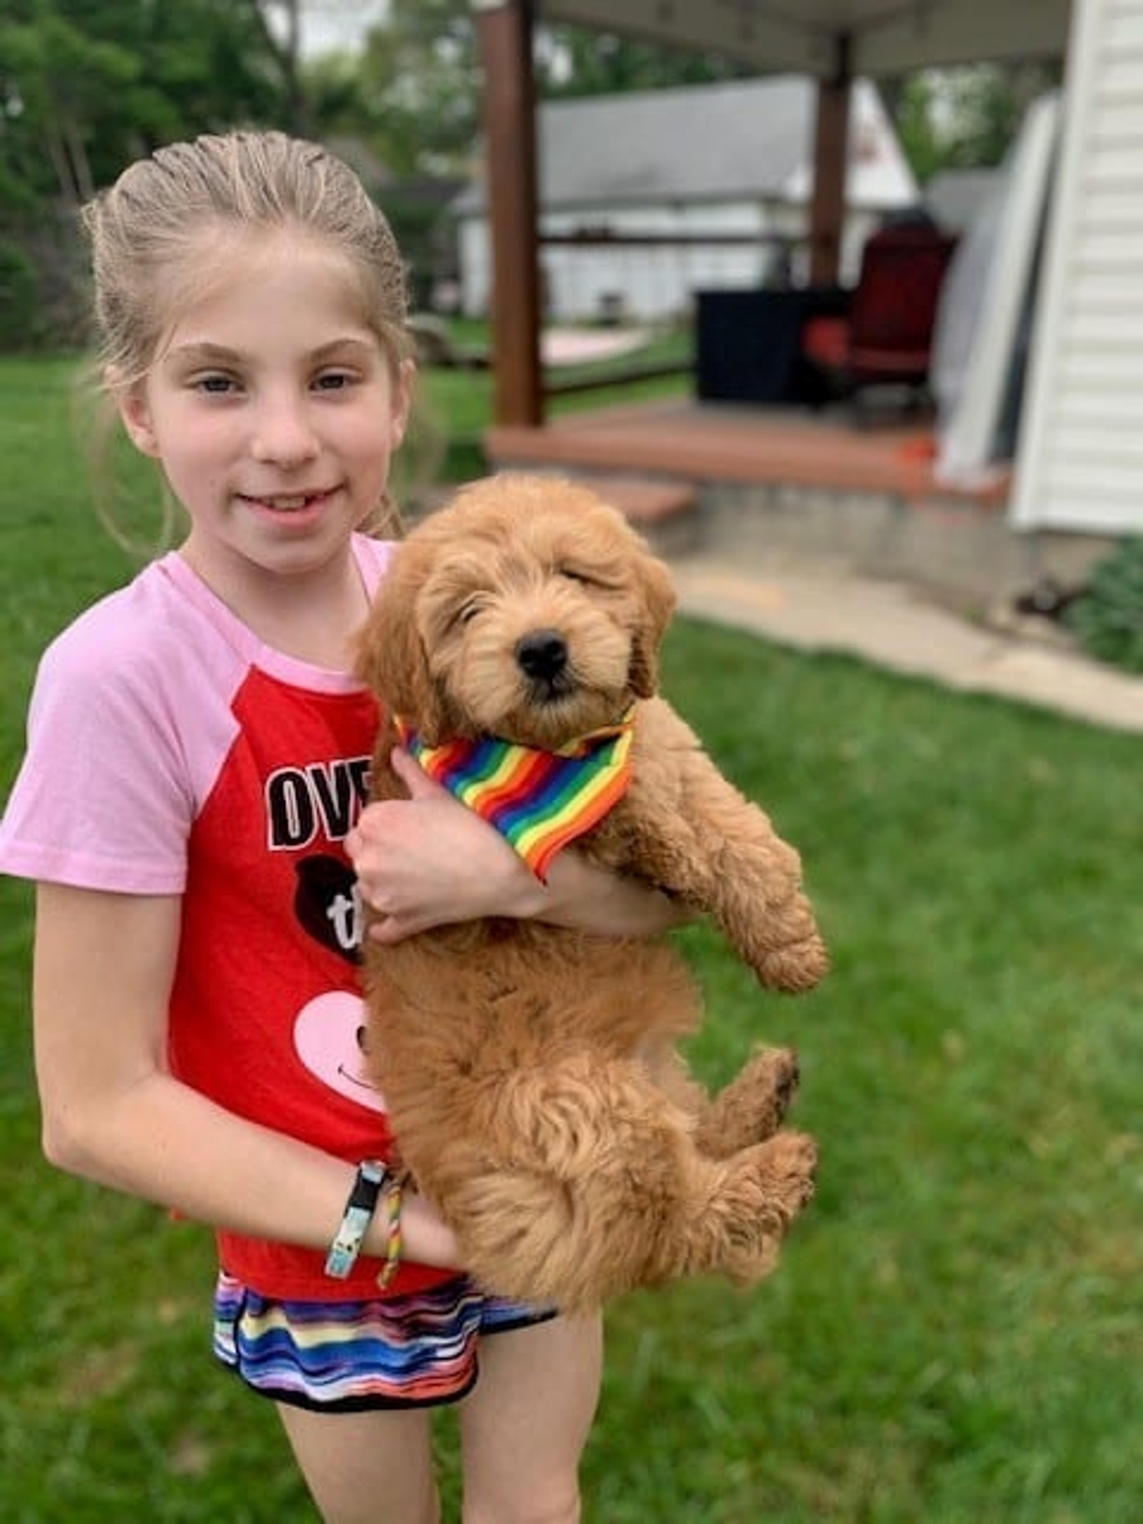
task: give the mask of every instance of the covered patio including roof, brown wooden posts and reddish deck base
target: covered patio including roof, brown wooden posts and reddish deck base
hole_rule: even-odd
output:
[[[991,597],[997,581],[1068,575],[1081,543],[1029,544],[1006,524],[1010,469],[971,489],[934,480],[933,421],[898,411],[861,424],[846,407],[674,401],[553,416],[541,357],[541,253],[532,44],[536,20],[579,23],[680,49],[724,53],[759,73],[815,81],[809,280],[837,280],[852,82],[922,67],[1061,58],[1068,0],[474,0],[485,64],[492,239],[497,466],[572,469],[626,489],[648,521],[698,507],[709,539],[765,520],[771,549],[844,553],[864,570],[948,579]],[[701,131],[701,123],[696,123]],[[1082,539],[1082,536],[1081,536]],[[756,535],[751,541],[759,543]],[[1062,559],[1061,559],[1062,558]],[[1035,565],[1032,564],[1035,559]],[[988,585],[986,585],[988,584]]]

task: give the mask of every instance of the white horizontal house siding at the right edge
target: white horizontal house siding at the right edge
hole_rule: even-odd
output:
[[[1012,521],[1143,533],[1143,0],[1076,0]]]

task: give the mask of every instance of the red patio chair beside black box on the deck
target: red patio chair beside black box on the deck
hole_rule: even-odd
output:
[[[902,384],[927,392],[933,326],[956,238],[930,223],[901,223],[873,233],[844,317],[814,317],[802,331],[802,355],[835,387],[856,398],[864,387]]]

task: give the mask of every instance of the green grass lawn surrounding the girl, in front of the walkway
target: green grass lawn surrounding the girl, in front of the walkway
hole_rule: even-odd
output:
[[[131,572],[69,375],[0,361],[0,792],[38,651]],[[820,1184],[756,1291],[610,1309],[587,1521],[1135,1524],[1138,739],[681,619],[664,689],[802,847],[835,962],[762,995],[689,930],[693,1064],[796,1042]],[[41,1161],[27,890],[0,902],[0,1519],[311,1519],[273,1413],[210,1362],[207,1234]]]

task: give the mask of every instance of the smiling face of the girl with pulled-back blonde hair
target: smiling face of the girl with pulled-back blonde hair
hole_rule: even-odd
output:
[[[287,233],[204,238],[226,261],[120,396],[126,430],[190,517],[184,552],[218,591],[347,555],[379,504],[410,376],[363,323],[346,262]],[[209,270],[209,264],[207,264]]]

